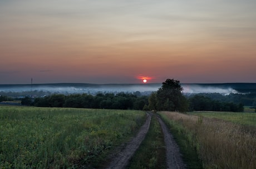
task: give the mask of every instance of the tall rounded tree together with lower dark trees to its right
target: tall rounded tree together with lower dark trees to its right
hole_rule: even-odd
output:
[[[218,101],[204,95],[194,95],[185,98],[181,93],[180,81],[166,79],[161,88],[149,96],[149,108],[155,111],[233,111],[242,112],[242,103]],[[222,98],[221,95],[215,97]],[[223,96],[225,97],[225,96]]]

